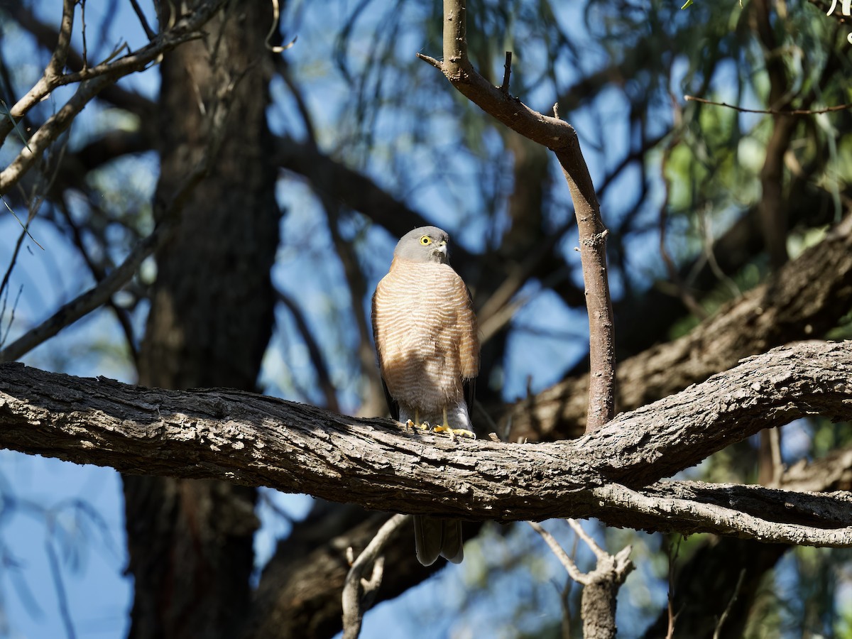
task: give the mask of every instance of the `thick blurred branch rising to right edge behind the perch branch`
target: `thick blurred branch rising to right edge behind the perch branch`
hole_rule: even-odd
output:
[[[852,215],[763,285],[719,310],[673,342],[648,348],[618,367],[619,407],[632,410],[691,383],[703,382],[737,360],[768,348],[823,335],[852,304]],[[552,439],[582,432],[589,376],[568,377],[501,419],[509,439]],[[570,427],[570,428],[569,428]]]

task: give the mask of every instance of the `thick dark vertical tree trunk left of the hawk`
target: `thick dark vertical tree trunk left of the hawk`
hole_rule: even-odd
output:
[[[161,14],[161,23],[168,18]],[[269,269],[279,224],[265,116],[270,20],[268,4],[230,3],[204,40],[162,63],[157,201],[205,154],[215,157],[157,254],[141,383],[255,388],[273,324]],[[213,114],[223,108],[227,121],[217,130]],[[221,481],[227,475],[162,475],[124,475],[135,578],[130,636],[233,637],[250,607],[255,491]]]

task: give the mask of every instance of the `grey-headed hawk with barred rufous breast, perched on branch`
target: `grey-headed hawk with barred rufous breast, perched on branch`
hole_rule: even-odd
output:
[[[473,437],[469,407],[479,374],[476,315],[449,263],[449,236],[415,228],[394,250],[372,302],[373,336],[391,415],[435,432]],[[461,522],[414,517],[417,560],[462,561]]]

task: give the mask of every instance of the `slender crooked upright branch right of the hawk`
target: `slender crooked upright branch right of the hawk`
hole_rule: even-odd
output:
[[[458,91],[511,130],[556,153],[574,203],[580,238],[586,306],[589,309],[591,365],[586,431],[600,428],[615,412],[615,349],[613,304],[607,281],[607,229],[603,226],[577,132],[559,118],[550,118],[509,94],[507,69],[504,86],[495,87],[475,71],[468,59],[467,8],[464,0],[444,0],[444,60],[417,54],[444,73]],[[507,58],[508,65],[508,58]]]

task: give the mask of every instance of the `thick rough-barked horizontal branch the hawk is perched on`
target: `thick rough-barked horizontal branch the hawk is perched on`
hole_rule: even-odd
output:
[[[0,367],[0,445],[21,452],[131,474],[308,492],[371,509],[498,521],[595,516],[619,526],[757,538],[772,537],[756,527],[765,522],[771,530],[772,521],[759,508],[755,521],[728,516],[728,487],[696,496],[692,510],[680,502],[669,508],[682,494],[677,483],[639,489],[760,429],[814,414],[852,419],[852,342],[774,349],[579,440],[548,444],[452,441],[236,390],[141,389]],[[642,500],[604,494],[619,486]],[[752,497],[771,504],[777,494],[760,488]],[[826,510],[824,496],[783,495],[795,507],[773,520],[783,525],[780,538],[852,544],[852,516]],[[846,493],[835,498],[849,500]]]

